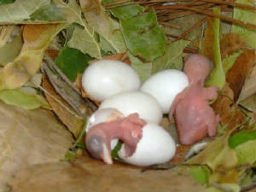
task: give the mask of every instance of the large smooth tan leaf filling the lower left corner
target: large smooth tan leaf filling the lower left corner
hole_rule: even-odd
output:
[[[49,110],[0,102],[0,191],[14,172],[64,158],[73,137]]]

